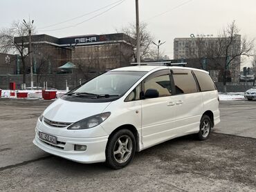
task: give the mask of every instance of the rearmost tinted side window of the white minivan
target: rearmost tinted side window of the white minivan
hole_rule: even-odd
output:
[[[204,73],[198,70],[194,70],[193,72],[194,75],[196,75],[197,81],[199,82],[201,91],[216,90],[214,82],[208,73]]]

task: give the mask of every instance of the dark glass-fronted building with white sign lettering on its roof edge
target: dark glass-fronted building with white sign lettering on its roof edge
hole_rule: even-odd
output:
[[[28,46],[28,37],[16,37],[15,41],[24,41]],[[40,70],[58,73],[58,67],[68,61],[75,64],[82,73],[100,73],[127,66],[134,42],[134,39],[123,33],[64,38],[33,35],[31,52],[34,73],[39,73]]]

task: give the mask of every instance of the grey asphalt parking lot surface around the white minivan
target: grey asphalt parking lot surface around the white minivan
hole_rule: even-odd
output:
[[[158,144],[118,171],[34,146],[37,117],[49,104],[0,99],[0,191],[256,191],[256,102],[221,102],[221,124],[209,140]]]

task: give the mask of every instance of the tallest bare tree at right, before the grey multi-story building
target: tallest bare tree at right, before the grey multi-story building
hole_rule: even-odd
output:
[[[241,57],[253,56],[253,48],[254,39],[248,39],[246,36],[241,38],[239,28],[235,21],[232,21],[217,38],[196,38],[196,51],[192,52],[192,58],[200,59],[201,62],[205,57],[212,61],[214,69],[221,70],[226,91],[230,72],[239,72]]]

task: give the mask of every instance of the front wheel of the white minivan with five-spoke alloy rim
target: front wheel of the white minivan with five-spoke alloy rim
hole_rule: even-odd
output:
[[[106,163],[112,169],[122,169],[134,158],[136,140],[128,129],[114,133],[107,143]]]

